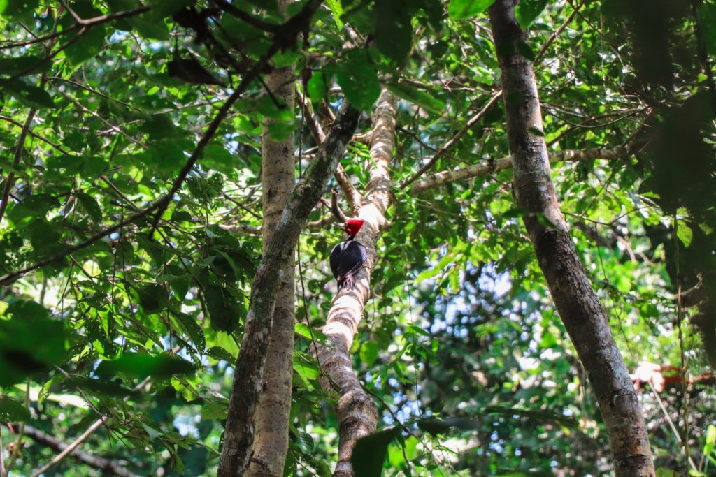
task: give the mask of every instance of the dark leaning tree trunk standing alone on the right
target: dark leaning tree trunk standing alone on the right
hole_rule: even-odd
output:
[[[642,410],[599,298],[579,261],[559,210],[544,142],[532,62],[516,17],[516,0],[490,6],[495,51],[514,162],[514,193],[558,313],[604,416],[616,476],[653,476]]]

